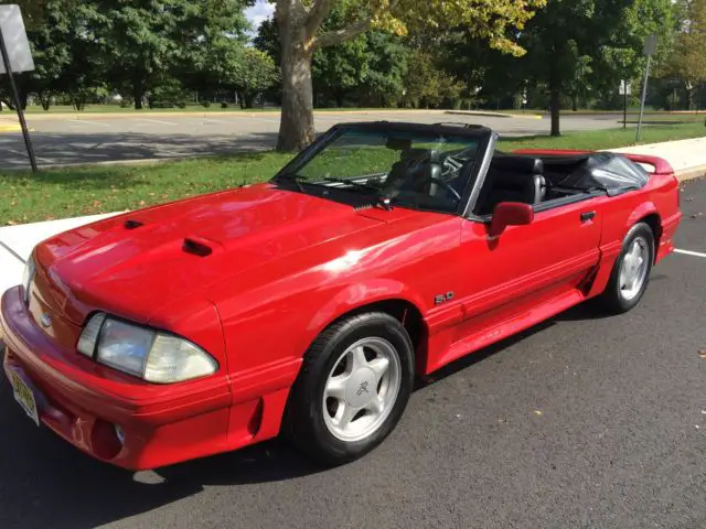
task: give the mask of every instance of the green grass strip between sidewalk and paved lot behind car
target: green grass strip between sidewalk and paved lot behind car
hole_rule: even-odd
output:
[[[610,149],[634,142],[634,128],[507,138],[500,149]],[[703,122],[645,127],[642,143],[706,136]],[[38,174],[0,171],[0,226],[135,209],[185,196],[263,182],[291,159],[250,152],[154,165],[66,168]]]

